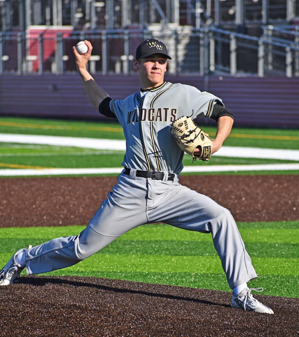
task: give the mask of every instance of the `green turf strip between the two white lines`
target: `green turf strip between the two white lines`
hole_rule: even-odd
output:
[[[109,150],[92,150],[68,146],[50,146],[37,144],[0,143],[0,167],[11,168],[11,165],[28,165],[38,167],[118,167],[125,152]],[[260,158],[213,157],[213,165],[271,164],[295,163],[292,160]],[[191,165],[192,158],[184,156],[184,166]],[[4,164],[4,165],[3,165]],[[11,165],[9,165],[11,164]],[[207,165],[196,160],[192,165]]]

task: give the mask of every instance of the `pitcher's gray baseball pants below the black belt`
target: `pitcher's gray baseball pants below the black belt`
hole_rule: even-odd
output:
[[[77,236],[53,239],[28,249],[28,275],[72,266],[142,224],[165,222],[175,227],[211,233],[229,286],[257,277],[235,220],[226,208],[175,180],[136,177],[124,173],[88,226]],[[200,243],[199,243],[200,244]]]

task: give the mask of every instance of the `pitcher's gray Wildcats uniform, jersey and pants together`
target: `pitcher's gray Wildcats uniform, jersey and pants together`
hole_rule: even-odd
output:
[[[112,192],[79,235],[53,239],[26,251],[27,274],[74,265],[134,227],[165,222],[211,233],[231,288],[256,278],[231,213],[178,182],[183,151],[174,141],[170,125],[183,115],[210,117],[216,101],[221,103],[212,94],[169,82],[147,93],[139,91],[123,100],[111,100],[110,109],[126,138],[122,165],[130,170],[122,171]],[[137,170],[162,171],[164,175],[161,180],[145,178],[138,176]]]

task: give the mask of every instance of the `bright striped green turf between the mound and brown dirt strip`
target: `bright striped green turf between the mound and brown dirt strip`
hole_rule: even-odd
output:
[[[238,227],[259,275],[250,282],[250,287],[264,287],[264,295],[299,297],[299,222],[239,223]],[[20,247],[77,235],[83,228],[1,228],[0,261],[3,264]],[[211,235],[165,224],[134,228],[79,264],[46,275],[95,276],[229,290]]]

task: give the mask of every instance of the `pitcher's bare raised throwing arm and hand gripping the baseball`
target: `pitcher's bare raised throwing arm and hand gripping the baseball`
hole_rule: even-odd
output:
[[[73,53],[75,54],[76,57],[76,67],[80,74],[87,96],[92,105],[98,111],[99,105],[102,102],[102,100],[109,97],[109,95],[105,90],[103,90],[96,84],[95,80],[92,78],[91,74],[86,69],[86,64],[91,56],[92,45],[87,40],[84,40],[84,42],[88,47],[87,53],[84,55],[80,55],[77,52],[76,47],[74,46],[73,46]]]

